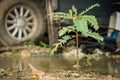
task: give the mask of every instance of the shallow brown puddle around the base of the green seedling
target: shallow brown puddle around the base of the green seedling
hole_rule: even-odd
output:
[[[0,58],[0,69],[10,68],[19,62],[19,57]],[[76,61],[66,60],[62,56],[32,55],[28,60],[36,69],[44,72],[75,70],[72,66]],[[80,60],[80,70],[83,72],[97,71],[104,74],[120,74],[120,58],[102,58],[91,60],[91,66],[86,66],[85,60]]]

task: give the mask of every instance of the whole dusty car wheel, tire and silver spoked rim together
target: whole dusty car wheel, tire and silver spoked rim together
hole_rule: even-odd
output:
[[[7,46],[42,39],[44,11],[33,0],[3,0],[0,3],[0,38]]]

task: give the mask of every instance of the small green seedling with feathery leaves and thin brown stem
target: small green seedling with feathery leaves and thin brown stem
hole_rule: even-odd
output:
[[[59,19],[71,19],[73,25],[62,27],[58,31],[59,39],[58,43],[55,44],[54,48],[50,51],[50,55],[53,55],[57,50],[58,46],[62,46],[67,43],[68,40],[75,38],[76,39],[76,50],[77,50],[77,70],[79,70],[79,53],[78,53],[78,37],[92,37],[98,41],[103,41],[103,37],[100,36],[96,31],[99,29],[98,22],[93,15],[85,15],[89,10],[99,7],[98,3],[88,7],[86,10],[83,10],[78,14],[76,7],[73,5],[71,9],[69,9],[68,13],[64,12],[54,12],[52,13],[53,20]],[[90,23],[95,31],[92,31],[88,28],[88,23]],[[73,32],[74,35],[70,35],[69,33]]]

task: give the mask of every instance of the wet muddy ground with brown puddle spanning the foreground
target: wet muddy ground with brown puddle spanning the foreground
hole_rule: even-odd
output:
[[[35,48],[7,51],[0,54],[0,80],[120,80],[120,56],[86,57],[76,61],[61,53],[50,56],[50,49]],[[90,55],[91,56],[91,55]]]

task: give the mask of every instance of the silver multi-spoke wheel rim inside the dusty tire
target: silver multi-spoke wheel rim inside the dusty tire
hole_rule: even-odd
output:
[[[5,28],[9,36],[17,40],[27,40],[37,29],[37,17],[29,7],[17,5],[12,7],[5,17]]]

